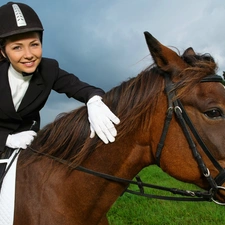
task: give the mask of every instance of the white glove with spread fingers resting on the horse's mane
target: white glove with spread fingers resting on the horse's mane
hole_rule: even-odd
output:
[[[88,119],[90,122],[91,135],[93,138],[96,134],[105,143],[115,141],[117,135],[116,128],[113,123],[119,124],[120,120],[111,110],[102,102],[100,96],[93,96],[87,102]]]

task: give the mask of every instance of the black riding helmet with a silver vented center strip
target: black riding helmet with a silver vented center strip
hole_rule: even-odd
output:
[[[35,11],[26,4],[8,2],[0,7],[0,39],[31,31],[43,31]]]

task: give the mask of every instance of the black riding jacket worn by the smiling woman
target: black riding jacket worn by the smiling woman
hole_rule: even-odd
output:
[[[8,68],[9,62],[0,62],[0,151],[4,149],[9,134],[29,130],[32,121],[37,121],[36,131],[39,130],[39,112],[51,90],[65,93],[69,98],[84,103],[94,95],[104,94],[102,89],[84,83],[74,74],[60,69],[56,60],[42,58],[16,111],[8,81]]]

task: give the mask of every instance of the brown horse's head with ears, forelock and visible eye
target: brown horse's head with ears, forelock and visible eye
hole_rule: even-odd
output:
[[[158,137],[164,144],[156,152],[161,168],[203,188],[213,186],[208,175],[216,179],[214,189],[225,187],[225,89],[215,75],[214,59],[192,48],[179,56],[148,32],[145,38],[156,67],[164,73],[168,104],[174,110],[170,126],[162,128],[166,138]],[[225,192],[218,189],[217,197],[224,202]]]

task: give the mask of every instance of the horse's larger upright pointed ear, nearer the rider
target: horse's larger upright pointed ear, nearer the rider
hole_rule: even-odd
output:
[[[144,32],[145,39],[156,65],[166,72],[179,72],[187,67],[186,63],[172,49],[162,45],[149,32]]]

